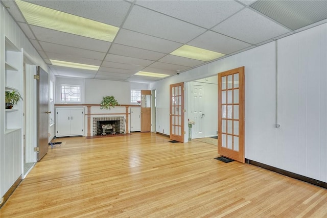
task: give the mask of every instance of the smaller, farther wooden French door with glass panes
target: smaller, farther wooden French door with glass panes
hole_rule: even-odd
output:
[[[170,139],[184,142],[184,83],[170,85]]]

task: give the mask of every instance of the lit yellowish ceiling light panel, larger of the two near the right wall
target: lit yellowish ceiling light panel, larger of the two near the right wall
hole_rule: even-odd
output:
[[[184,44],[183,46],[176,49],[171,55],[176,55],[184,58],[192,58],[200,61],[211,61],[224,56],[224,54],[213,52],[199,47]]]

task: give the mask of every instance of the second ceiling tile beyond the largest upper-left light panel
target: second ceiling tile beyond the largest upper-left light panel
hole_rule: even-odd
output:
[[[49,42],[40,42],[40,45],[42,46],[44,52],[52,52],[62,55],[74,55],[76,58],[103,60],[105,57],[105,53],[79,49],[77,47],[70,47]]]

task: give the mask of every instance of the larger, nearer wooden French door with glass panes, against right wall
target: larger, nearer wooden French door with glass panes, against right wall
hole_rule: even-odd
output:
[[[218,154],[244,163],[244,66],[218,74]]]

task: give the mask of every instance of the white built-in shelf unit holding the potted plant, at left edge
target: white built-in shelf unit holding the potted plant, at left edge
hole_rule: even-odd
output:
[[[4,68],[1,66],[0,94],[5,98],[6,91],[16,90],[24,99],[23,68],[24,53],[18,49],[7,37],[5,37]],[[1,56],[1,55],[0,55]],[[1,57],[3,58],[3,57]],[[23,112],[24,101],[19,101],[12,109],[5,109],[5,102],[0,112],[4,119],[0,126],[1,130],[1,156],[0,156],[0,191],[1,197],[22,179],[23,173]],[[0,201],[1,203],[2,201]]]

